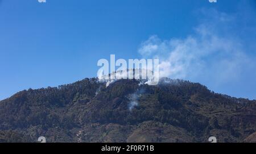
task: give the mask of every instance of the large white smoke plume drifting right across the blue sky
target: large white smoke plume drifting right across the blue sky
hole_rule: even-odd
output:
[[[245,68],[255,66],[241,39],[232,35],[239,30],[229,29],[236,16],[216,10],[205,12],[210,14],[207,20],[184,39],[162,40],[152,35],[143,41],[138,52],[144,58],[159,59],[160,77],[192,81],[203,77],[218,84],[237,81]]]

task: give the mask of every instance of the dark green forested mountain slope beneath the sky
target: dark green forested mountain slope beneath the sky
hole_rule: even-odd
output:
[[[256,101],[188,81],[138,84],[86,78],[20,91],[0,102],[0,142],[242,142],[256,132]],[[129,110],[131,94],[138,106]]]

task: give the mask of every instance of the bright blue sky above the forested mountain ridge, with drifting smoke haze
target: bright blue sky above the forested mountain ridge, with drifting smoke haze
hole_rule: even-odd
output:
[[[167,76],[256,99],[255,17],[254,0],[0,0],[0,100],[96,77],[110,54],[173,64],[174,53],[183,69]]]

